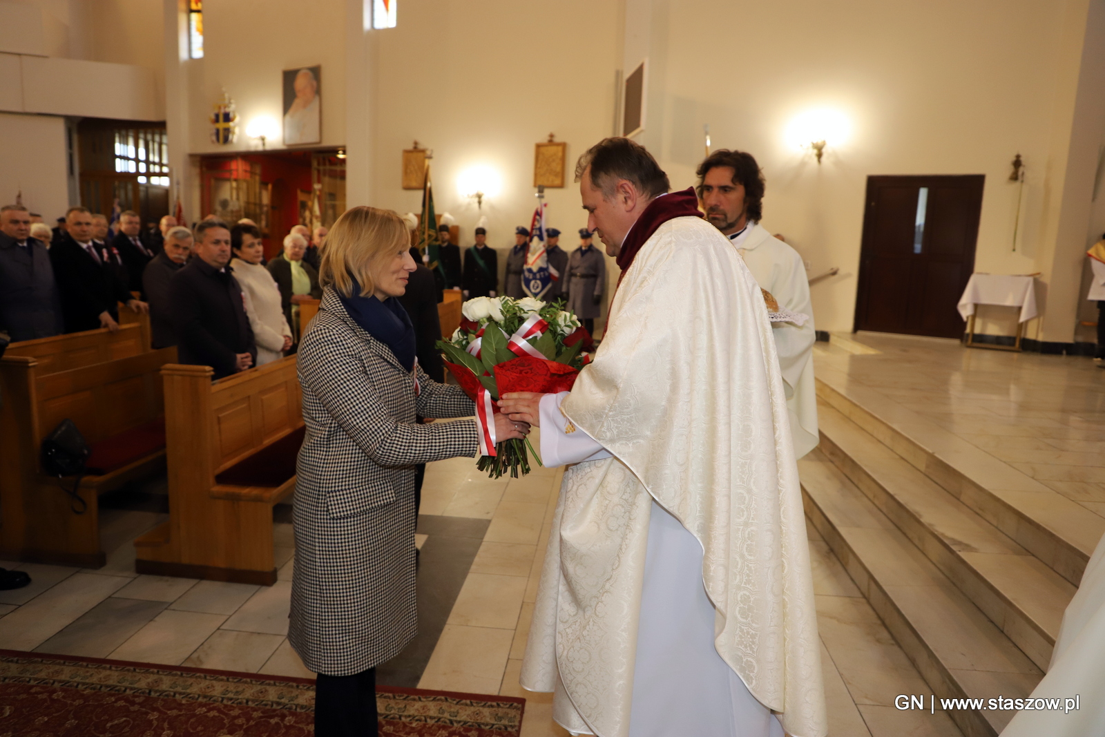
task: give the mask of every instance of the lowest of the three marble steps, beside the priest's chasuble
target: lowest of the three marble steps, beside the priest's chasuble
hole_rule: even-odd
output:
[[[1032,692],[1041,668],[832,461],[814,450],[798,465],[807,516],[937,699]],[[966,737],[996,737],[1013,712],[948,716]]]

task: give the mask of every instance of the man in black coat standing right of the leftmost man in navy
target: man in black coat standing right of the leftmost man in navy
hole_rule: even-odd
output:
[[[116,271],[106,262],[109,253],[92,240],[92,213],[87,208],[70,208],[65,233],[50,248],[50,263],[62,296],[66,333],[119,329],[118,303],[133,312],[146,312],[145,302],[135,299]]]

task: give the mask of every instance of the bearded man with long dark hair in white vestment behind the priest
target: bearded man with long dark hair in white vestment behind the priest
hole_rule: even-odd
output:
[[[782,386],[787,392],[794,457],[817,448],[818,397],[813,383],[813,304],[802,257],[759,224],[764,215],[764,175],[744,151],[719,149],[698,165],[698,198],[706,219],[737,248],[756,282],[779,308],[807,315],[801,325],[771,324]]]

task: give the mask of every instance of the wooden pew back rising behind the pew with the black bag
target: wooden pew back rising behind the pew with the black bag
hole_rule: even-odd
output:
[[[55,335],[51,338],[20,340],[9,345],[4,356],[34,358],[39,362],[40,375],[54,373],[137,356],[150,349],[148,333],[148,323],[145,335],[141,325],[134,323],[119,326],[115,333],[106,328],[96,328]]]

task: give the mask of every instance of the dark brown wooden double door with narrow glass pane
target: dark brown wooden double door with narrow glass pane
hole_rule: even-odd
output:
[[[867,177],[856,330],[962,336],[985,179]]]

